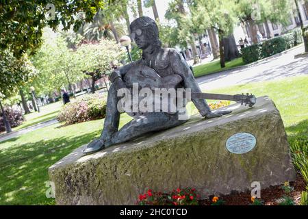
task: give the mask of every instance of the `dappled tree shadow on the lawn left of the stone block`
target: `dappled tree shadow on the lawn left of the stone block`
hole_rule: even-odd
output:
[[[99,131],[82,136],[18,144],[0,153],[0,205],[54,205],[46,197],[48,168]],[[10,141],[10,140],[8,140]]]

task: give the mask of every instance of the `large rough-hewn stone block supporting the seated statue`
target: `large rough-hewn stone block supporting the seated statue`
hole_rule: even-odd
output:
[[[149,188],[191,187],[205,198],[252,190],[253,181],[261,189],[293,181],[283,122],[268,96],[259,97],[252,108],[236,103],[224,109],[233,113],[209,120],[192,116],[179,127],[93,155],[83,156],[86,146],[81,146],[49,168],[57,204],[134,205]],[[236,133],[255,136],[255,146],[230,152],[226,143]]]

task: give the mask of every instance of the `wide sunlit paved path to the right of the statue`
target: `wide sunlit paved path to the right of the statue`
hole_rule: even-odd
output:
[[[303,46],[296,47],[248,66],[241,66],[240,68],[213,75],[205,75],[198,77],[196,80],[201,90],[208,90],[295,75],[308,75],[308,56],[294,58],[294,55],[304,51]]]

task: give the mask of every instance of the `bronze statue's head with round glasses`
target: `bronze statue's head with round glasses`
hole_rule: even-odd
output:
[[[149,45],[162,47],[159,40],[158,27],[155,21],[148,16],[141,16],[131,22],[131,38],[135,40],[140,49],[146,49]]]

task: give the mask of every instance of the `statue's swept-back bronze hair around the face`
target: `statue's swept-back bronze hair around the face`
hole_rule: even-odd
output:
[[[156,47],[162,47],[162,42],[159,40],[159,31],[157,24],[152,18],[148,16],[140,16],[129,25],[130,29],[138,29],[142,30],[142,34],[146,35],[146,38],[151,41],[151,44]]]

